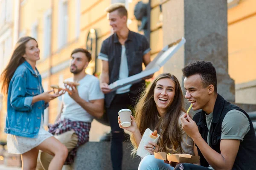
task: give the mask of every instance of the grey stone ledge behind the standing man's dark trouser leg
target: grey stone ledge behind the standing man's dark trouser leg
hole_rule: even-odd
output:
[[[140,158],[131,159],[131,143],[123,142],[122,170],[137,170]],[[110,142],[87,142],[79,147],[75,170],[112,170]]]

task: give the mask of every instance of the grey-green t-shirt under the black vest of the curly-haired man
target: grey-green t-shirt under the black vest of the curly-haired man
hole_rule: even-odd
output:
[[[211,128],[213,114],[206,115],[208,130]],[[237,139],[242,142],[244,136],[250,130],[250,122],[247,116],[236,109],[227,112],[221,125],[221,139]],[[210,136],[208,133],[207,143],[209,144]],[[214,170],[210,165],[209,169]]]

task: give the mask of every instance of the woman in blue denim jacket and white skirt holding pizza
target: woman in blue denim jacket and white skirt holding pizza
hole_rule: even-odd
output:
[[[35,67],[40,59],[39,53],[34,38],[20,38],[1,74],[2,92],[7,95],[7,147],[9,153],[21,154],[23,170],[35,170],[38,150],[54,156],[49,170],[61,170],[68,151],[44,130],[43,116],[48,102],[64,91],[55,94],[44,92],[41,75]]]

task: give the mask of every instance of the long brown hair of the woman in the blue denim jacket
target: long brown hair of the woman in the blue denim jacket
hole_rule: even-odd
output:
[[[32,37],[21,37],[17,41],[15,48],[12,52],[11,59],[0,76],[1,91],[2,91],[2,94],[5,96],[7,96],[8,94],[8,88],[9,88],[9,84],[11,82],[13,74],[15,73],[18,66],[25,61],[25,58],[23,57],[23,55],[26,52],[26,43],[29,42],[29,40],[35,40],[35,39]]]

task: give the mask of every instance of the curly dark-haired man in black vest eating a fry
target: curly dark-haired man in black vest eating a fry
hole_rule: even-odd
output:
[[[248,114],[217,93],[211,62],[195,61],[183,69],[185,98],[194,111],[181,117],[182,127],[195,142],[200,165],[178,164],[176,170],[252,170],[256,167],[256,136]]]

